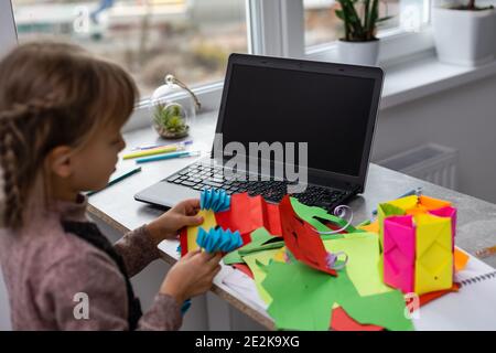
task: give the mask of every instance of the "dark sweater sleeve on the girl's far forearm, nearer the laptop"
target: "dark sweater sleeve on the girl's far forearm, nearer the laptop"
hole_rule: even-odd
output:
[[[159,249],[144,225],[126,234],[114,247],[122,256],[130,277],[140,272],[160,256]]]

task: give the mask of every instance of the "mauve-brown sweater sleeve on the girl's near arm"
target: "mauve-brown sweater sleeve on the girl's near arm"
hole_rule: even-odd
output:
[[[60,330],[129,330],[126,282],[106,254],[91,252],[53,265],[43,278],[36,304]],[[138,330],[177,330],[180,307],[158,295]]]

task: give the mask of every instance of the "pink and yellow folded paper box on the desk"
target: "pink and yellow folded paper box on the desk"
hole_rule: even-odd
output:
[[[454,274],[456,208],[424,195],[379,204],[384,281],[403,292],[450,289]]]

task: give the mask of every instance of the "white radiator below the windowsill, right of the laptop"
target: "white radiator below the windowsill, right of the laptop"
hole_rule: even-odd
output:
[[[459,151],[450,147],[427,143],[376,163],[440,186],[459,186]]]

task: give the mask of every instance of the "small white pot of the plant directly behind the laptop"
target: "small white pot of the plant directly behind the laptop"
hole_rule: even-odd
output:
[[[379,57],[379,40],[369,42],[337,41],[337,56],[344,64],[376,66]]]

